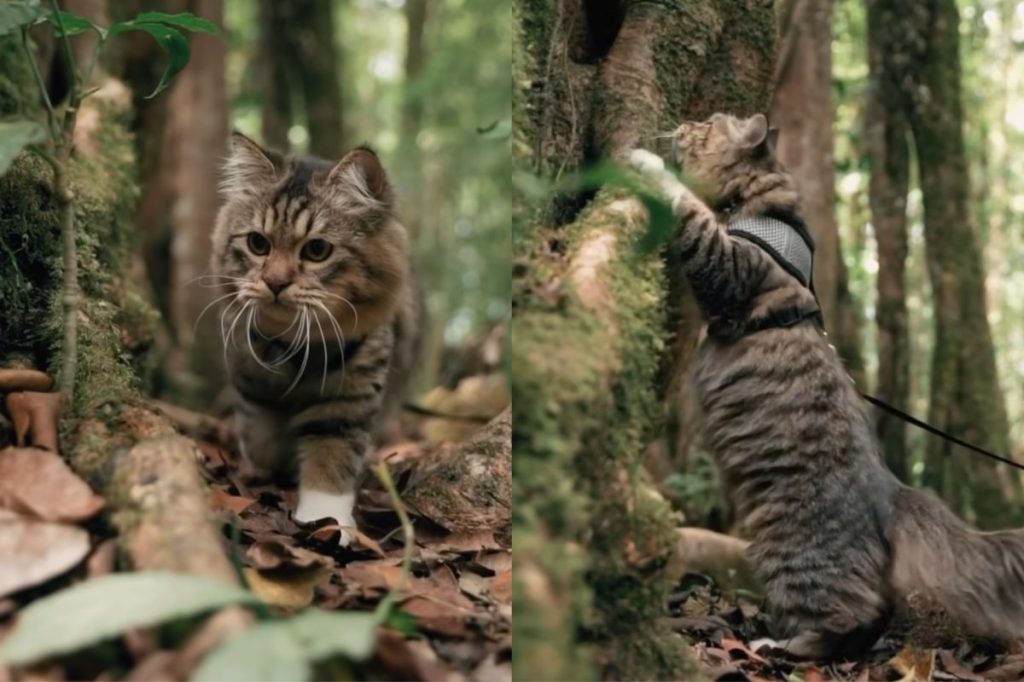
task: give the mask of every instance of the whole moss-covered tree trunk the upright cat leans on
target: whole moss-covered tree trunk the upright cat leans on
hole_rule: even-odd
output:
[[[768,103],[768,3],[516,0],[513,20],[526,187],[655,147],[681,119]],[[513,225],[514,674],[685,679],[685,643],[660,623],[675,519],[640,455],[663,427],[659,368],[681,368],[696,326],[675,324],[684,290],[635,249],[636,199],[540,194]]]

